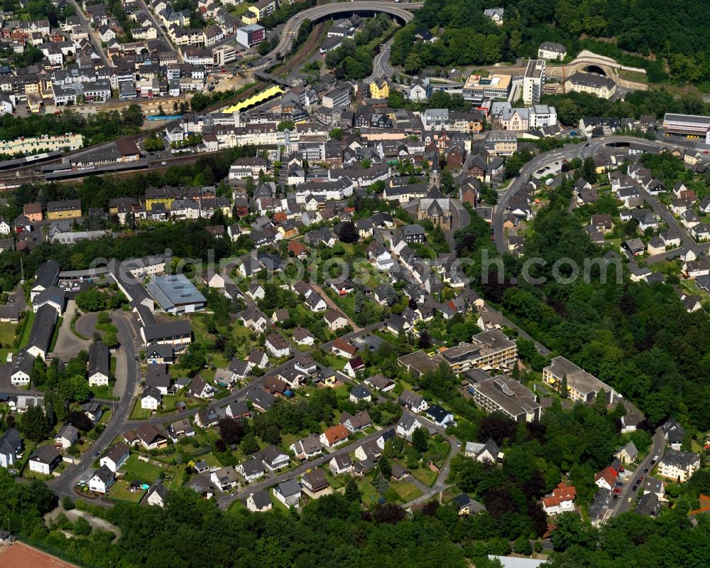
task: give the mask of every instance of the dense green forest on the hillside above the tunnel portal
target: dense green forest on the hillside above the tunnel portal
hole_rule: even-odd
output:
[[[398,32],[392,63],[416,72],[427,65],[513,62],[536,55],[543,41],[557,41],[570,55],[591,49],[643,67],[653,82],[668,79],[664,58],[672,80],[710,80],[710,5],[704,0],[509,0],[496,6],[506,9],[500,27],[484,16],[490,2],[427,0]],[[440,41],[415,47],[417,28],[432,29]]]

